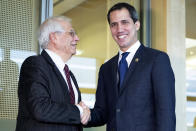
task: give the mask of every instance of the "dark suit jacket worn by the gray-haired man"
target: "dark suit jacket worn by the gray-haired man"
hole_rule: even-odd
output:
[[[70,72],[71,73],[71,72]],[[71,73],[81,94],[75,77]],[[21,67],[16,131],[80,131],[80,111],[70,104],[67,84],[46,53],[27,58]]]

